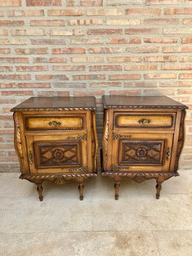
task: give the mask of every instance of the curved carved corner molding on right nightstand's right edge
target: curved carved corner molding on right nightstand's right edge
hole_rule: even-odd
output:
[[[179,138],[177,144],[177,153],[175,158],[175,172],[179,169],[179,159],[182,152],[182,148],[184,147],[184,140],[185,140],[185,130],[184,130],[184,122],[186,117],[186,109],[182,109],[181,117],[180,117],[180,128],[179,128]]]

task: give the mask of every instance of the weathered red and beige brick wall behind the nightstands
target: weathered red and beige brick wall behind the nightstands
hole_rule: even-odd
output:
[[[31,96],[168,95],[192,106],[191,0],[0,0],[0,170],[18,170],[10,108]],[[192,164],[191,111],[182,168]]]

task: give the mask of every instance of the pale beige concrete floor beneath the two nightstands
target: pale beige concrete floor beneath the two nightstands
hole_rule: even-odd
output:
[[[0,173],[0,255],[191,256],[192,172],[163,184],[122,182],[119,200],[107,177],[88,180],[84,200],[76,183],[36,186],[19,173]]]

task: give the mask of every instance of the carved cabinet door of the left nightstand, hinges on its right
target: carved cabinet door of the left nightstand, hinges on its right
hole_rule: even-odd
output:
[[[30,173],[87,171],[86,136],[26,136]]]

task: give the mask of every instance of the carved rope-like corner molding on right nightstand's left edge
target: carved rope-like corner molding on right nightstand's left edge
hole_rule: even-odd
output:
[[[108,109],[104,112],[104,132],[102,134],[102,159],[103,165],[102,168],[106,168],[106,163],[108,161],[108,131],[109,131],[109,111]]]

